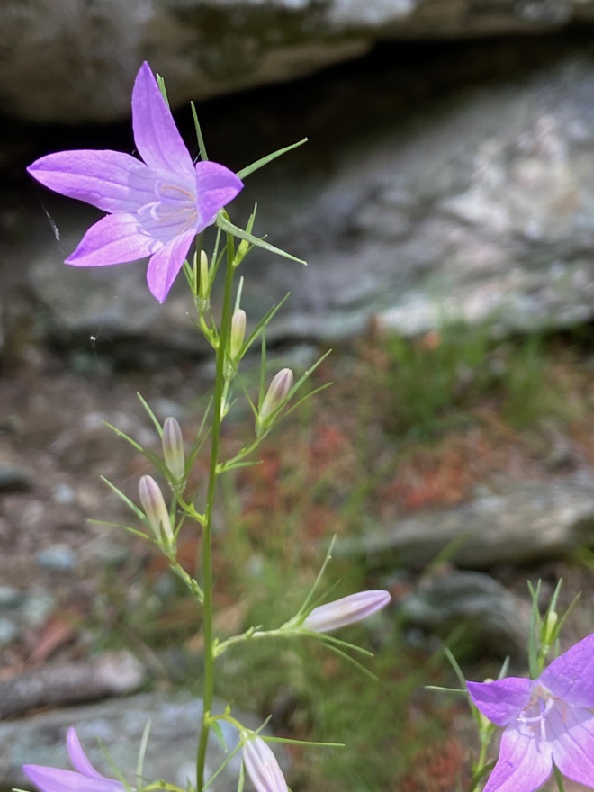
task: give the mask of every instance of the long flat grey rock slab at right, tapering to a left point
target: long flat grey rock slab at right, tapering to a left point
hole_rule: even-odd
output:
[[[370,567],[423,567],[443,554],[473,569],[563,558],[594,542],[594,478],[510,484],[463,506],[401,519],[340,542],[335,554],[364,556]]]

